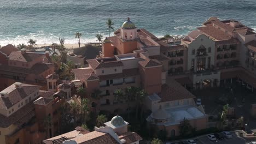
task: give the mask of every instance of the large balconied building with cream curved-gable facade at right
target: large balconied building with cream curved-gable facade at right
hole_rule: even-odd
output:
[[[255,40],[254,30],[241,22],[211,17],[181,45],[163,46],[161,53],[170,57],[168,75],[185,87],[219,87],[237,80],[253,89]]]

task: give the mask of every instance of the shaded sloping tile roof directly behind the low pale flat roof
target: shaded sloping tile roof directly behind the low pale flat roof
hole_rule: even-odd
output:
[[[161,98],[160,102],[195,98],[193,94],[175,80],[170,80],[168,85],[162,85],[159,97]]]

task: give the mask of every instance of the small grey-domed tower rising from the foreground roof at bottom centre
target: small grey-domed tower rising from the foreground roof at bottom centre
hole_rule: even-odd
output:
[[[112,128],[115,133],[123,134],[127,132],[127,125],[129,123],[125,122],[123,117],[114,116],[111,121],[104,123],[106,126]]]

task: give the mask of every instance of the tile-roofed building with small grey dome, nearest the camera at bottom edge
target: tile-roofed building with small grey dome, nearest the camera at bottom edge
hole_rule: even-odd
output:
[[[125,122],[122,117],[115,116],[111,119],[111,121],[105,123],[105,127],[95,127],[94,131],[92,132],[83,129],[82,127],[77,127],[75,130],[68,133],[44,140],[43,143],[138,144],[142,138],[137,133],[128,131],[128,124],[129,123]]]

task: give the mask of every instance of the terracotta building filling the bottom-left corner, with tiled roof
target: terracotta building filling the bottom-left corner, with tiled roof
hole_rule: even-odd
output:
[[[39,90],[40,86],[15,82],[0,92],[1,143],[41,143],[57,135],[63,94]],[[50,117],[51,126],[45,127]]]

